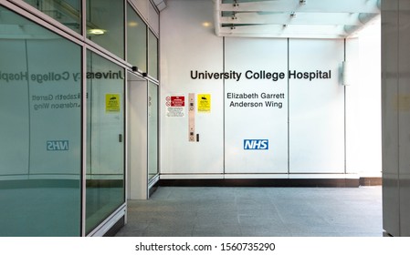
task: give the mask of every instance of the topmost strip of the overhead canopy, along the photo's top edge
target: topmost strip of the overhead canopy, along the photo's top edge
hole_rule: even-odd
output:
[[[307,0],[300,5],[300,0],[277,0],[239,3],[238,5],[221,4],[220,10],[226,12],[307,12],[307,13],[380,13],[380,0]]]

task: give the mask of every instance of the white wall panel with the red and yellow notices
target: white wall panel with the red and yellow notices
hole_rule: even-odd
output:
[[[214,36],[212,1],[169,1],[161,12],[161,173],[221,174],[224,168],[223,81],[193,81],[191,70],[223,70],[223,40]],[[164,32],[164,35],[163,35]],[[189,42],[189,43],[187,43]],[[188,141],[188,113],[167,117],[166,97],[211,94],[211,112],[195,115],[200,142]],[[185,104],[187,105],[187,103]]]

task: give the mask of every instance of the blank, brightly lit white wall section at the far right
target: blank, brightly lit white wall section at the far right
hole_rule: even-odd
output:
[[[380,18],[346,42],[352,84],[346,87],[346,164],[348,172],[381,176],[381,24]]]

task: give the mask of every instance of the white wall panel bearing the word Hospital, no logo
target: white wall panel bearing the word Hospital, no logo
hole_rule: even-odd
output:
[[[330,72],[289,81],[291,173],[344,173],[343,40],[290,39],[289,70]]]

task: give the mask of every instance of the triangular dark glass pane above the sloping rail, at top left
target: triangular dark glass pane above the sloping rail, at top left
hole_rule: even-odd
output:
[[[25,0],[41,12],[81,33],[81,0]]]

